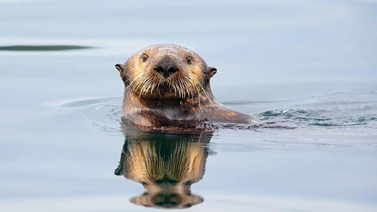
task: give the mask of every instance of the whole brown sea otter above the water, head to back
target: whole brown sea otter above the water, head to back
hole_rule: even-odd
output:
[[[124,83],[123,121],[145,127],[256,122],[252,115],[228,109],[216,100],[210,79],[217,69],[183,46],[148,46],[115,68]]]

